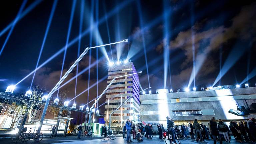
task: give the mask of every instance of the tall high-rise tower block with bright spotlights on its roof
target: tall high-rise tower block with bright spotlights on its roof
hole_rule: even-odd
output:
[[[108,68],[107,85],[114,77],[136,73],[136,69],[132,62],[115,63]],[[116,78],[106,92],[105,114],[104,120],[109,123],[109,114],[112,113],[122,102],[127,100],[122,107],[111,115],[111,129],[121,130],[126,119],[140,122],[140,98],[139,94],[139,77],[138,74],[127,77]]]

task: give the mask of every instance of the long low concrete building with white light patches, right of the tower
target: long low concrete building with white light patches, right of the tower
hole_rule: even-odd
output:
[[[245,99],[249,106],[256,102],[256,87],[178,93],[158,91],[158,94],[140,95],[140,119],[142,123],[164,124],[166,127],[166,116],[178,125],[193,122],[195,118],[207,125],[211,117],[227,123],[232,119],[256,117],[255,114],[242,117],[228,113],[230,109],[236,110],[237,105],[246,107]]]

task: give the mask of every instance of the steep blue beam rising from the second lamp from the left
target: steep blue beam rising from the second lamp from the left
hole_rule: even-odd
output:
[[[48,20],[47,28],[46,28],[46,31],[45,31],[45,34],[44,34],[43,43],[42,43],[42,46],[41,46],[41,49],[40,49],[40,53],[39,53],[39,56],[38,56],[38,59],[37,59],[36,68],[38,67],[38,64],[39,64],[39,61],[40,61],[40,58],[41,58],[41,55],[42,55],[42,51],[44,49],[44,44],[45,44],[45,41],[46,41],[46,37],[48,35],[48,31],[50,29],[50,25],[52,23],[52,17],[54,15],[57,2],[58,2],[58,0],[54,0],[53,5],[52,5],[52,10],[51,10],[51,14],[50,14],[50,17],[49,17],[49,20]],[[30,89],[31,89],[33,81],[34,81],[35,74],[36,74],[36,71],[33,74],[33,78],[32,78],[31,85],[30,85]]]

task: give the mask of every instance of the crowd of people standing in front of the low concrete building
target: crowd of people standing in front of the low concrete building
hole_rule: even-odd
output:
[[[157,125],[159,139],[162,139],[162,133],[168,131],[172,135],[171,142],[176,144],[178,134],[179,138],[192,139],[198,141],[205,141],[205,139],[213,139],[214,144],[217,141],[222,144],[222,141],[230,143],[231,135],[238,142],[254,142],[256,140],[256,121],[254,118],[250,118],[249,121],[236,122],[231,120],[229,126],[226,122],[221,119],[216,120],[212,117],[207,125],[200,124],[197,119],[194,120],[193,124],[189,122],[188,125],[184,123],[182,125],[175,125],[173,119],[166,117],[167,119],[167,129],[165,130],[163,124]],[[138,141],[143,141],[144,136],[147,139],[153,138],[153,125],[152,123],[144,124],[134,124],[131,120],[127,119],[125,126],[123,127],[123,138],[126,138],[127,142],[132,142],[131,138]],[[231,133],[230,133],[231,131]],[[126,133],[127,132],[127,133]]]

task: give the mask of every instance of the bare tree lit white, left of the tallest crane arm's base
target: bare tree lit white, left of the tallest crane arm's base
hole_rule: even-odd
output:
[[[40,101],[44,92],[45,92],[44,88],[39,89],[38,86],[34,87],[31,99]],[[26,105],[26,107],[29,106],[29,103],[27,103],[26,101],[24,101],[24,100],[21,100],[21,101]],[[28,122],[31,122],[31,119],[35,116],[37,111],[42,107],[42,105],[40,103],[37,103],[37,102],[30,102],[30,103],[31,103],[31,105],[30,105],[30,109],[28,111]],[[35,111],[33,114],[32,114],[32,110]]]

